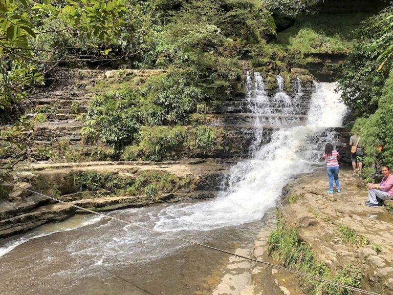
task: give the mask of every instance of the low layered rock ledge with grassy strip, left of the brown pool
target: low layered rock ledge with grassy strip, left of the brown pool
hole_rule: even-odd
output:
[[[84,213],[27,192],[44,193],[99,212],[154,203],[213,198],[236,160],[35,163],[20,167],[8,200],[0,202],[0,238]]]

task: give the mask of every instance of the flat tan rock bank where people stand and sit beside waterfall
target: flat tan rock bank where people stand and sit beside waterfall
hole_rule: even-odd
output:
[[[328,176],[324,170],[290,182],[284,189],[280,208],[283,226],[296,230],[298,244],[303,242],[315,263],[328,267],[332,278],[337,278],[338,273],[351,265],[359,271],[361,288],[393,294],[393,216],[386,210],[391,201],[385,201],[385,207],[366,207],[367,190],[363,180],[350,170],[341,170],[339,179],[342,192],[333,195],[326,193]],[[266,228],[258,235],[254,247],[256,258],[272,259],[266,254],[267,235]],[[277,246],[274,241],[272,246]],[[279,256],[273,251],[273,258],[279,259]],[[267,294],[260,291],[266,290],[265,280],[258,275],[263,270],[271,274],[275,288],[285,294],[298,294],[299,291],[289,290],[285,281],[279,279],[280,272],[269,267],[254,269],[255,293]],[[287,275],[286,278],[288,280]]]

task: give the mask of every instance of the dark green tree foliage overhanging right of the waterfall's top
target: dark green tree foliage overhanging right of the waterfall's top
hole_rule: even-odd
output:
[[[373,114],[378,108],[392,61],[393,6],[367,18],[354,31],[354,49],[348,54],[339,80],[342,99],[359,116]]]

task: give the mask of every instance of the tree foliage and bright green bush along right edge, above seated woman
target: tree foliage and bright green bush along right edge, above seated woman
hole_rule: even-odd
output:
[[[367,18],[339,79],[342,100],[356,116],[352,133],[361,136],[366,181],[382,164],[393,163],[393,5]]]

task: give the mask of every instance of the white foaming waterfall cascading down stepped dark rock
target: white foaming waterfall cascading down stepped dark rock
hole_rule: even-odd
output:
[[[300,95],[295,94],[291,98],[283,92],[282,77],[277,76],[278,92],[273,98],[266,96],[263,86],[259,73],[254,76],[248,74],[247,100],[257,117],[296,116],[291,107],[291,99],[296,101]],[[155,229],[210,230],[262,218],[269,208],[275,206],[283,186],[292,177],[311,172],[321,164],[319,157],[324,143],[334,139],[334,133],[326,130],[339,127],[346,112],[345,106],[340,103],[340,94],[334,91],[335,87],[335,83],[314,82],[315,92],[311,97],[307,120],[299,126],[275,130],[271,141],[260,147],[258,130],[264,128],[264,121],[256,120],[253,157],[231,168],[228,187],[211,202],[178,204],[163,209]],[[301,91],[300,82],[297,94],[299,89]],[[284,103],[277,110],[274,106],[279,100],[284,100]]]

